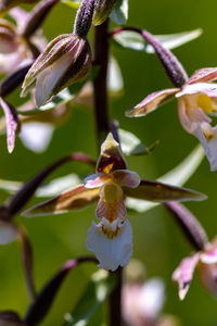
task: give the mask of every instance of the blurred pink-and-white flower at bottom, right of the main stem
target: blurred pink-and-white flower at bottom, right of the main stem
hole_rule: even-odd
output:
[[[165,303],[165,285],[159,277],[145,278],[144,265],[135,259],[125,268],[122,314],[128,326],[158,326]]]

